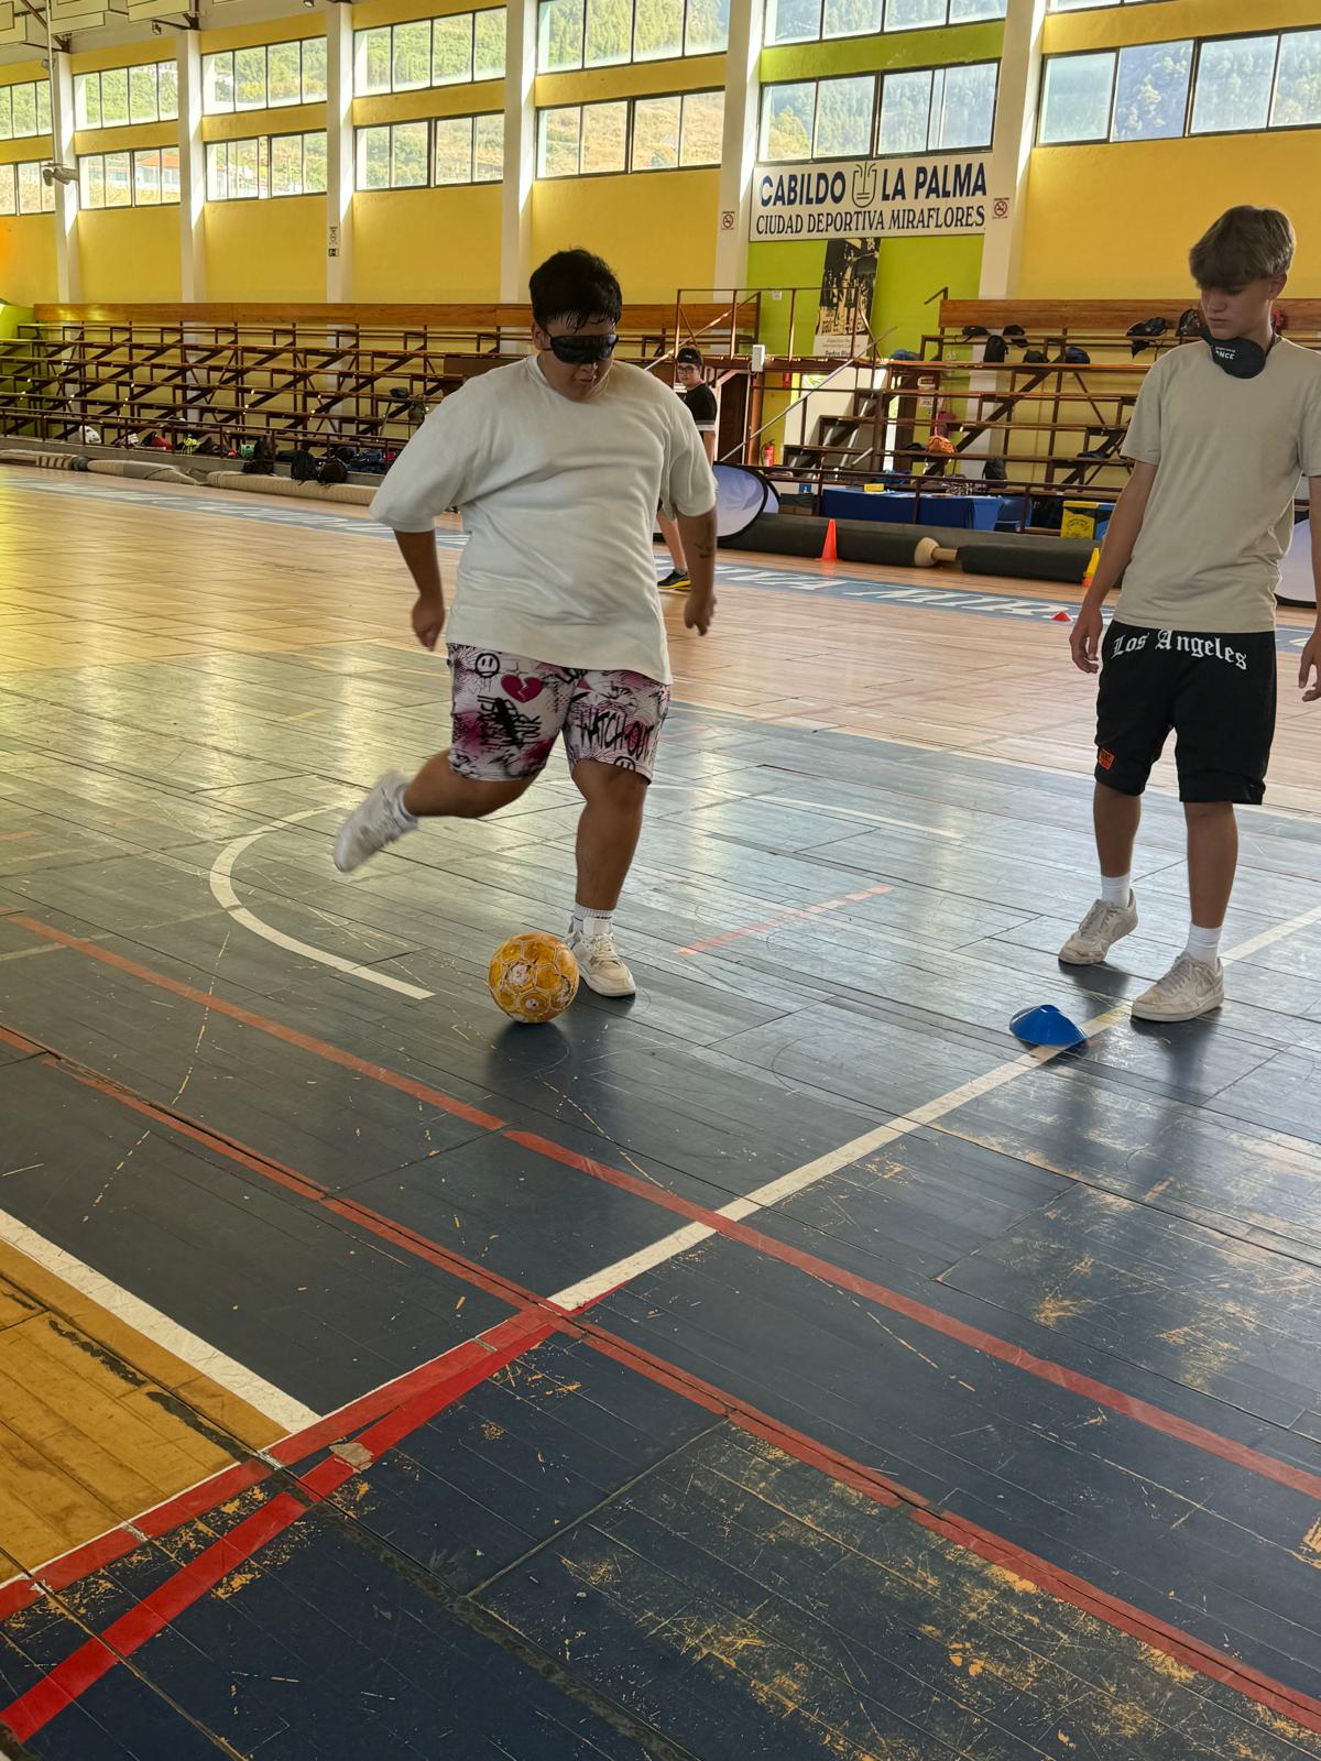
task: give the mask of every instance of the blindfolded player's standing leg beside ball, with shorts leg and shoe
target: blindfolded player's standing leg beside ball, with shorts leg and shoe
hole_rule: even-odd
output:
[[[613,914],[643,831],[646,791],[669,687],[641,673],[585,673],[564,731],[583,815],[578,896],[569,947],[601,997],[632,997],[632,972],[615,953]]]

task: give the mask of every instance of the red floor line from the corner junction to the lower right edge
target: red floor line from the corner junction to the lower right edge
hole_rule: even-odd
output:
[[[669,1388],[671,1393],[682,1395],[708,1412],[729,1419],[731,1425],[749,1432],[749,1435],[764,1439],[786,1455],[875,1499],[877,1504],[902,1507],[919,1527],[930,1529],[934,1534],[953,1541],[955,1546],[1013,1571],[1015,1576],[1027,1578],[1057,1601],[1069,1603],[1073,1608],[1080,1608],[1106,1625],[1127,1632],[1143,1645],[1175,1657],[1198,1675],[1222,1682],[1235,1692],[1244,1694],[1244,1698],[1293,1719],[1295,1724],[1309,1731],[1321,1731],[1321,1699],[1316,1699],[1312,1694],[1286,1687],[1284,1682],[1277,1682],[1273,1676],[1240,1662],[1236,1657],[1229,1657],[1226,1652],[1203,1645],[1180,1627],[1173,1627],[1155,1615],[1136,1608],[1133,1603],[1096,1588],[1085,1578],[1076,1578],[1073,1573],[1053,1566],[1036,1553],[1029,1553],[1013,1541],[1004,1541],[978,1523],[965,1522],[962,1516],[953,1516],[946,1511],[934,1511],[919,1493],[911,1492],[877,1469],[867,1467],[863,1462],[854,1462],[851,1456],[840,1455],[805,1432],[782,1425],[779,1419],[749,1405],[736,1395],[717,1388],[713,1382],[706,1382],[689,1370],[675,1368],[645,1347],[622,1340],[592,1323],[583,1324],[581,1331],[587,1335],[588,1344],[606,1358],[613,1358],[616,1363],[636,1370],[662,1388]]]

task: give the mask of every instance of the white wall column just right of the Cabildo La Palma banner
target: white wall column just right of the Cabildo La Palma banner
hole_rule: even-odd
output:
[[[1027,220],[1027,171],[1037,132],[1041,32],[1046,0],[1009,0],[1004,19],[1000,85],[986,167],[986,239],[981,250],[981,299],[1007,299],[1018,289]]]

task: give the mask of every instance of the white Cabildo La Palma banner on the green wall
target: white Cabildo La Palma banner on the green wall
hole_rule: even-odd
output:
[[[930,238],[986,227],[988,153],[757,166],[754,241]]]

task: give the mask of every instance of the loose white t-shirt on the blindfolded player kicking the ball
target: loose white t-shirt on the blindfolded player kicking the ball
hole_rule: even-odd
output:
[[[446,641],[581,671],[669,682],[655,509],[706,514],[715,479],[692,417],[624,361],[576,403],[535,356],[470,379],[409,440],[372,512],[470,534]]]

